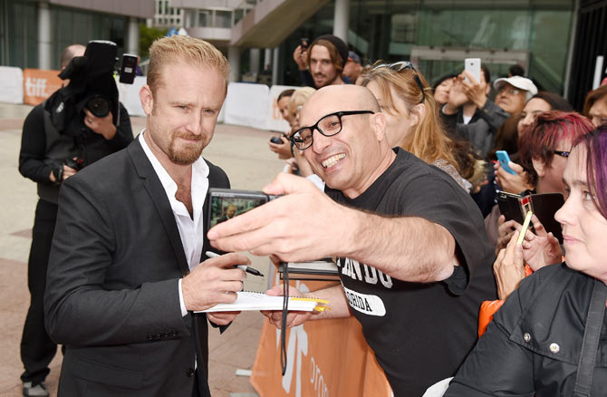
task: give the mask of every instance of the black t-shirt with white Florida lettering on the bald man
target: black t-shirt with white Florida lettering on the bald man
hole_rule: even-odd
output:
[[[483,218],[464,189],[405,150],[356,199],[325,188],[337,201],[376,214],[425,218],[447,228],[461,266],[439,283],[410,283],[350,258],[338,258],[352,314],[396,396],[419,396],[455,375],[477,342],[478,310],[496,299],[495,258]],[[407,258],[403,258],[403,266]]]

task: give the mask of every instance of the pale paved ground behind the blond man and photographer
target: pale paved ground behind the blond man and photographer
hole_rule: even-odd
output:
[[[27,105],[0,103],[0,397],[22,395],[19,376],[23,364],[19,344],[29,306],[27,257],[37,195],[35,183],[24,179],[17,166],[21,129],[31,109]],[[145,119],[131,118],[131,124],[137,134],[145,126]],[[204,156],[226,170],[232,188],[258,190],[283,169],[283,161],[268,149],[271,136],[269,131],[219,124]],[[267,276],[269,260],[252,259],[253,265]],[[266,278],[249,276],[245,287],[265,291],[267,283]],[[223,335],[215,329],[210,331],[209,383],[213,396],[229,397],[232,393],[241,397],[255,396],[248,378],[236,376],[235,371],[253,366],[263,322],[264,317],[258,312],[248,312],[239,315]],[[51,395],[56,395],[61,360],[62,354],[58,351],[47,378]]]

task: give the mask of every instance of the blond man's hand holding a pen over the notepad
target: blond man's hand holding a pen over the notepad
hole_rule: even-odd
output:
[[[196,266],[181,281],[186,309],[198,311],[217,304],[234,303],[236,292],[242,290],[246,279],[246,273],[234,266],[250,263],[248,257],[232,253],[212,257]]]

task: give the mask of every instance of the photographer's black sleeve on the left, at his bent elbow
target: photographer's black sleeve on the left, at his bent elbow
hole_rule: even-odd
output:
[[[44,135],[44,112],[42,105],[34,107],[24,121],[19,151],[19,172],[25,178],[38,183],[53,183],[49,178],[52,168],[44,160],[46,137]]]

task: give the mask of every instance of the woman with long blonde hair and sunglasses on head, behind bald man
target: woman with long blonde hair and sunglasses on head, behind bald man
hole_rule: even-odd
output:
[[[411,63],[376,63],[361,74],[386,118],[386,138],[419,159],[447,172],[470,191],[483,179],[483,162],[464,141],[450,139],[438,121],[428,83]]]

